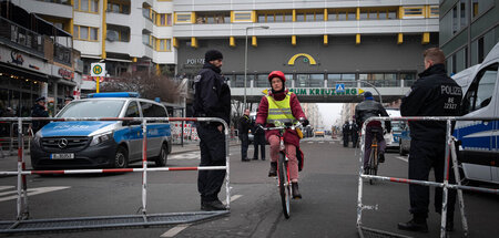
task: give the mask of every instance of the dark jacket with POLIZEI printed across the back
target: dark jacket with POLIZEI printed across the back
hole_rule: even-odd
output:
[[[435,64],[419,74],[419,80],[403,99],[403,116],[458,116],[461,87],[446,74],[444,64]],[[445,143],[446,122],[409,122],[414,139]]]

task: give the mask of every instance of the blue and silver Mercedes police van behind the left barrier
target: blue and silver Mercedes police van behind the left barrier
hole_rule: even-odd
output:
[[[138,93],[94,93],[64,106],[55,117],[167,117],[166,108]],[[142,159],[140,121],[51,122],[33,137],[34,169],[125,168]],[[166,165],[172,149],[170,124],[147,122],[147,159]]]

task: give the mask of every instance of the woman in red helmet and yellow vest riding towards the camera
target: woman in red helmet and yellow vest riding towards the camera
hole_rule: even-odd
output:
[[[256,124],[274,127],[275,124],[296,123],[297,118],[304,126],[308,125],[305,113],[299,105],[296,94],[285,90],[286,77],[281,71],[273,71],[268,74],[268,82],[272,91],[268,95],[262,97],[256,115]],[[302,198],[298,190],[298,159],[297,153],[299,151],[298,133],[295,130],[286,130],[284,133],[284,143],[286,147],[286,155],[289,159],[289,178],[292,180],[293,198]],[[277,175],[277,159],[279,156],[279,132],[266,131],[265,137],[271,144],[271,170],[268,177]],[[303,157],[303,156],[302,156]],[[303,165],[303,163],[302,163]]]

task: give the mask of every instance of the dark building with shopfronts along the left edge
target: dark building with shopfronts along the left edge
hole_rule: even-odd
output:
[[[55,115],[64,97],[78,91],[80,52],[71,34],[19,3],[0,2],[0,116],[30,116],[39,96]]]

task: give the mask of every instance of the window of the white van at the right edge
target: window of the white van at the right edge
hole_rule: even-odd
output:
[[[462,101],[464,114],[488,106],[496,87],[498,64],[481,70],[469,86]]]

